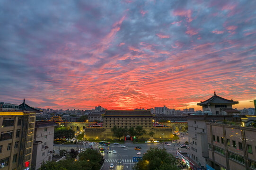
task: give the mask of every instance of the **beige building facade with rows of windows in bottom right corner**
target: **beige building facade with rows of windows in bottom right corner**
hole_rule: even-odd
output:
[[[208,166],[215,170],[256,170],[256,128],[242,123],[206,123]]]

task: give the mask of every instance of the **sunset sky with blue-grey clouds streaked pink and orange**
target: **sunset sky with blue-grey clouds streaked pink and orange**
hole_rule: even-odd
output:
[[[39,108],[253,107],[254,0],[0,0],[0,101]]]

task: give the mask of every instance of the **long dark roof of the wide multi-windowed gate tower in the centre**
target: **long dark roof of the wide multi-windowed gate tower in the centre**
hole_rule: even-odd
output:
[[[150,110],[106,110],[102,116],[154,116]]]

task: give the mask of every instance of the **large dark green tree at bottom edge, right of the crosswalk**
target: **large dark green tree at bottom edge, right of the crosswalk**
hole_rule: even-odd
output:
[[[135,170],[178,170],[175,157],[167,153],[166,149],[150,148],[142,161],[135,165]]]

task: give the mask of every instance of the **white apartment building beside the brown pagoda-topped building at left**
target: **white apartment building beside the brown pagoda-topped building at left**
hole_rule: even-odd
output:
[[[36,121],[32,154],[32,170],[38,170],[42,163],[53,159],[54,127],[53,121]]]

